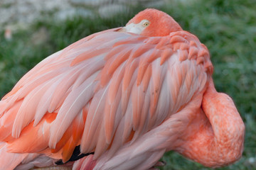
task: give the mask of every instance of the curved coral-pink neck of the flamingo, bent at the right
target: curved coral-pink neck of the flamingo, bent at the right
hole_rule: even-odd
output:
[[[190,135],[176,150],[205,166],[231,164],[242,156],[245,125],[232,99],[215,91],[213,82],[203,95]]]

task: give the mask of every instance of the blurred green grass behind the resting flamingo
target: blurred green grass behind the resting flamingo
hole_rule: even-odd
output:
[[[48,55],[87,35],[124,26],[142,7],[113,18],[50,18],[19,30],[12,40],[0,36],[0,96]],[[184,30],[198,36],[210,50],[218,91],[235,101],[246,126],[245,151],[239,162],[221,169],[256,169],[256,3],[253,0],[169,1],[169,13]],[[175,152],[166,153],[164,169],[208,169]]]

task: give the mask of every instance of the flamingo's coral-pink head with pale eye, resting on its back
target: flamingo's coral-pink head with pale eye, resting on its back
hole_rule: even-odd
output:
[[[147,8],[134,16],[122,30],[143,36],[158,37],[169,35],[182,28],[167,13]]]

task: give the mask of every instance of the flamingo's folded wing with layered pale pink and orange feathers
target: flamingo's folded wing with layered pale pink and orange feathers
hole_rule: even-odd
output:
[[[201,94],[213,67],[194,35],[181,30],[146,37],[118,30],[90,35],[56,52],[4,96],[0,140],[7,152],[24,153],[21,161],[26,153],[37,153],[66,162],[80,145],[82,153],[95,152],[93,160],[108,162],[93,163],[95,169],[114,167],[122,146],[139,144]],[[137,162],[156,162],[166,151],[158,143],[159,149],[147,145],[134,152],[134,158],[152,153]],[[7,169],[2,162],[0,169]]]

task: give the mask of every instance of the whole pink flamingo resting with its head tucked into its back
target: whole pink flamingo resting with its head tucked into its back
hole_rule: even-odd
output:
[[[231,164],[245,125],[212,74],[195,35],[145,9],[50,55],[2,98],[0,169],[154,169],[170,150]]]

